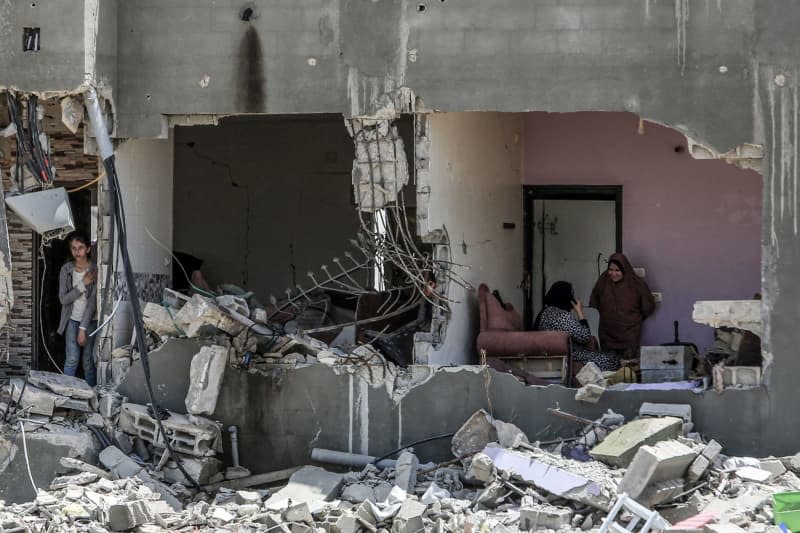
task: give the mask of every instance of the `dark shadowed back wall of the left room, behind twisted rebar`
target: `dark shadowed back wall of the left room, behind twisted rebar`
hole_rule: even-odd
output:
[[[174,247],[209,283],[267,302],[352,247],[353,141],[339,117],[237,119],[178,128]],[[317,278],[320,279],[320,278]]]

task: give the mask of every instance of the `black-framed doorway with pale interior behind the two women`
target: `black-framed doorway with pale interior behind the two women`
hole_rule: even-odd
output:
[[[527,329],[555,281],[588,305],[609,255],[622,250],[622,187],[526,186],[524,247]]]

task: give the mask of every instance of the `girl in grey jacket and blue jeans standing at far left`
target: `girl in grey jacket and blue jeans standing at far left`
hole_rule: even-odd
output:
[[[67,236],[67,246],[72,253],[72,261],[61,267],[58,276],[58,299],[61,301],[61,321],[58,333],[66,340],[66,360],[64,374],[74,376],[78,363],[83,362],[83,376],[86,383],[97,384],[94,365],[94,337],[90,337],[97,327],[95,311],[97,300],[97,267],[89,259],[92,251],[89,239],[74,231]]]

